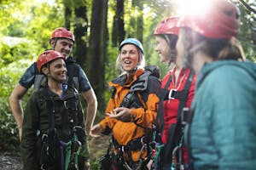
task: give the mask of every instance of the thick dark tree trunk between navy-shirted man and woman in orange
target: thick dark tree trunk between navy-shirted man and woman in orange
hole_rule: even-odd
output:
[[[107,14],[108,0],[93,0],[90,22],[90,40],[88,55],[85,63],[86,73],[96,92],[99,111],[105,111],[104,89],[105,69],[104,61],[107,58]]]

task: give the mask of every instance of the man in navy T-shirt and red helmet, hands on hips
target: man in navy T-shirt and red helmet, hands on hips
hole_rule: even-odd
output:
[[[75,63],[70,55],[75,39],[71,31],[66,28],[56,28],[49,38],[51,48],[61,53],[65,58],[67,65],[67,83],[73,84],[75,88],[83,95],[87,102],[86,113],[86,133],[90,134],[90,127],[93,125],[96,116],[97,100],[93,88],[86,77],[82,68]],[[37,91],[40,83],[44,79],[37,71],[37,63],[33,63],[27,68],[26,72],[20,78],[20,82],[15,86],[9,98],[9,104],[21,136],[22,115],[23,110],[20,105],[20,99],[26,94],[27,90],[34,85],[34,90]]]

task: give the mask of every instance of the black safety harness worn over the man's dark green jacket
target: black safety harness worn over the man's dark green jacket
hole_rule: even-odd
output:
[[[48,133],[41,135],[41,156],[40,165],[41,169],[55,169],[55,158],[56,158],[56,147],[60,147],[61,151],[61,170],[67,169],[79,169],[78,165],[78,150],[84,141],[81,137],[81,131],[84,131],[83,127],[79,126],[79,108],[78,108],[78,92],[75,91],[72,96],[67,96],[61,107],[61,124],[62,129],[65,133],[65,139],[58,139],[56,136],[55,129],[55,101],[49,96],[49,90],[44,87],[40,88],[40,92],[46,102],[48,109],[48,122],[49,129]],[[73,90],[76,90],[73,88]],[[68,110],[72,110],[73,114],[73,129],[70,129],[68,125]],[[67,137],[68,136],[68,137]]]

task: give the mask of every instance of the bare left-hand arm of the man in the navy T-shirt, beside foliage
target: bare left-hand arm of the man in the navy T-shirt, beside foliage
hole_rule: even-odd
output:
[[[22,129],[22,120],[23,120],[23,110],[20,104],[20,99],[23,98],[26,92],[27,92],[26,88],[24,88],[20,84],[17,84],[9,97],[9,105],[10,105],[11,111],[13,112],[13,115],[15,116],[15,121],[17,123],[17,127],[19,130],[20,139],[21,139],[21,129]]]

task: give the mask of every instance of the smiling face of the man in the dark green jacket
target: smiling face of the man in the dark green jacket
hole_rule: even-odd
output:
[[[67,68],[64,59],[55,59],[49,64],[49,68],[44,67],[44,74],[55,82],[63,82],[66,80]]]

